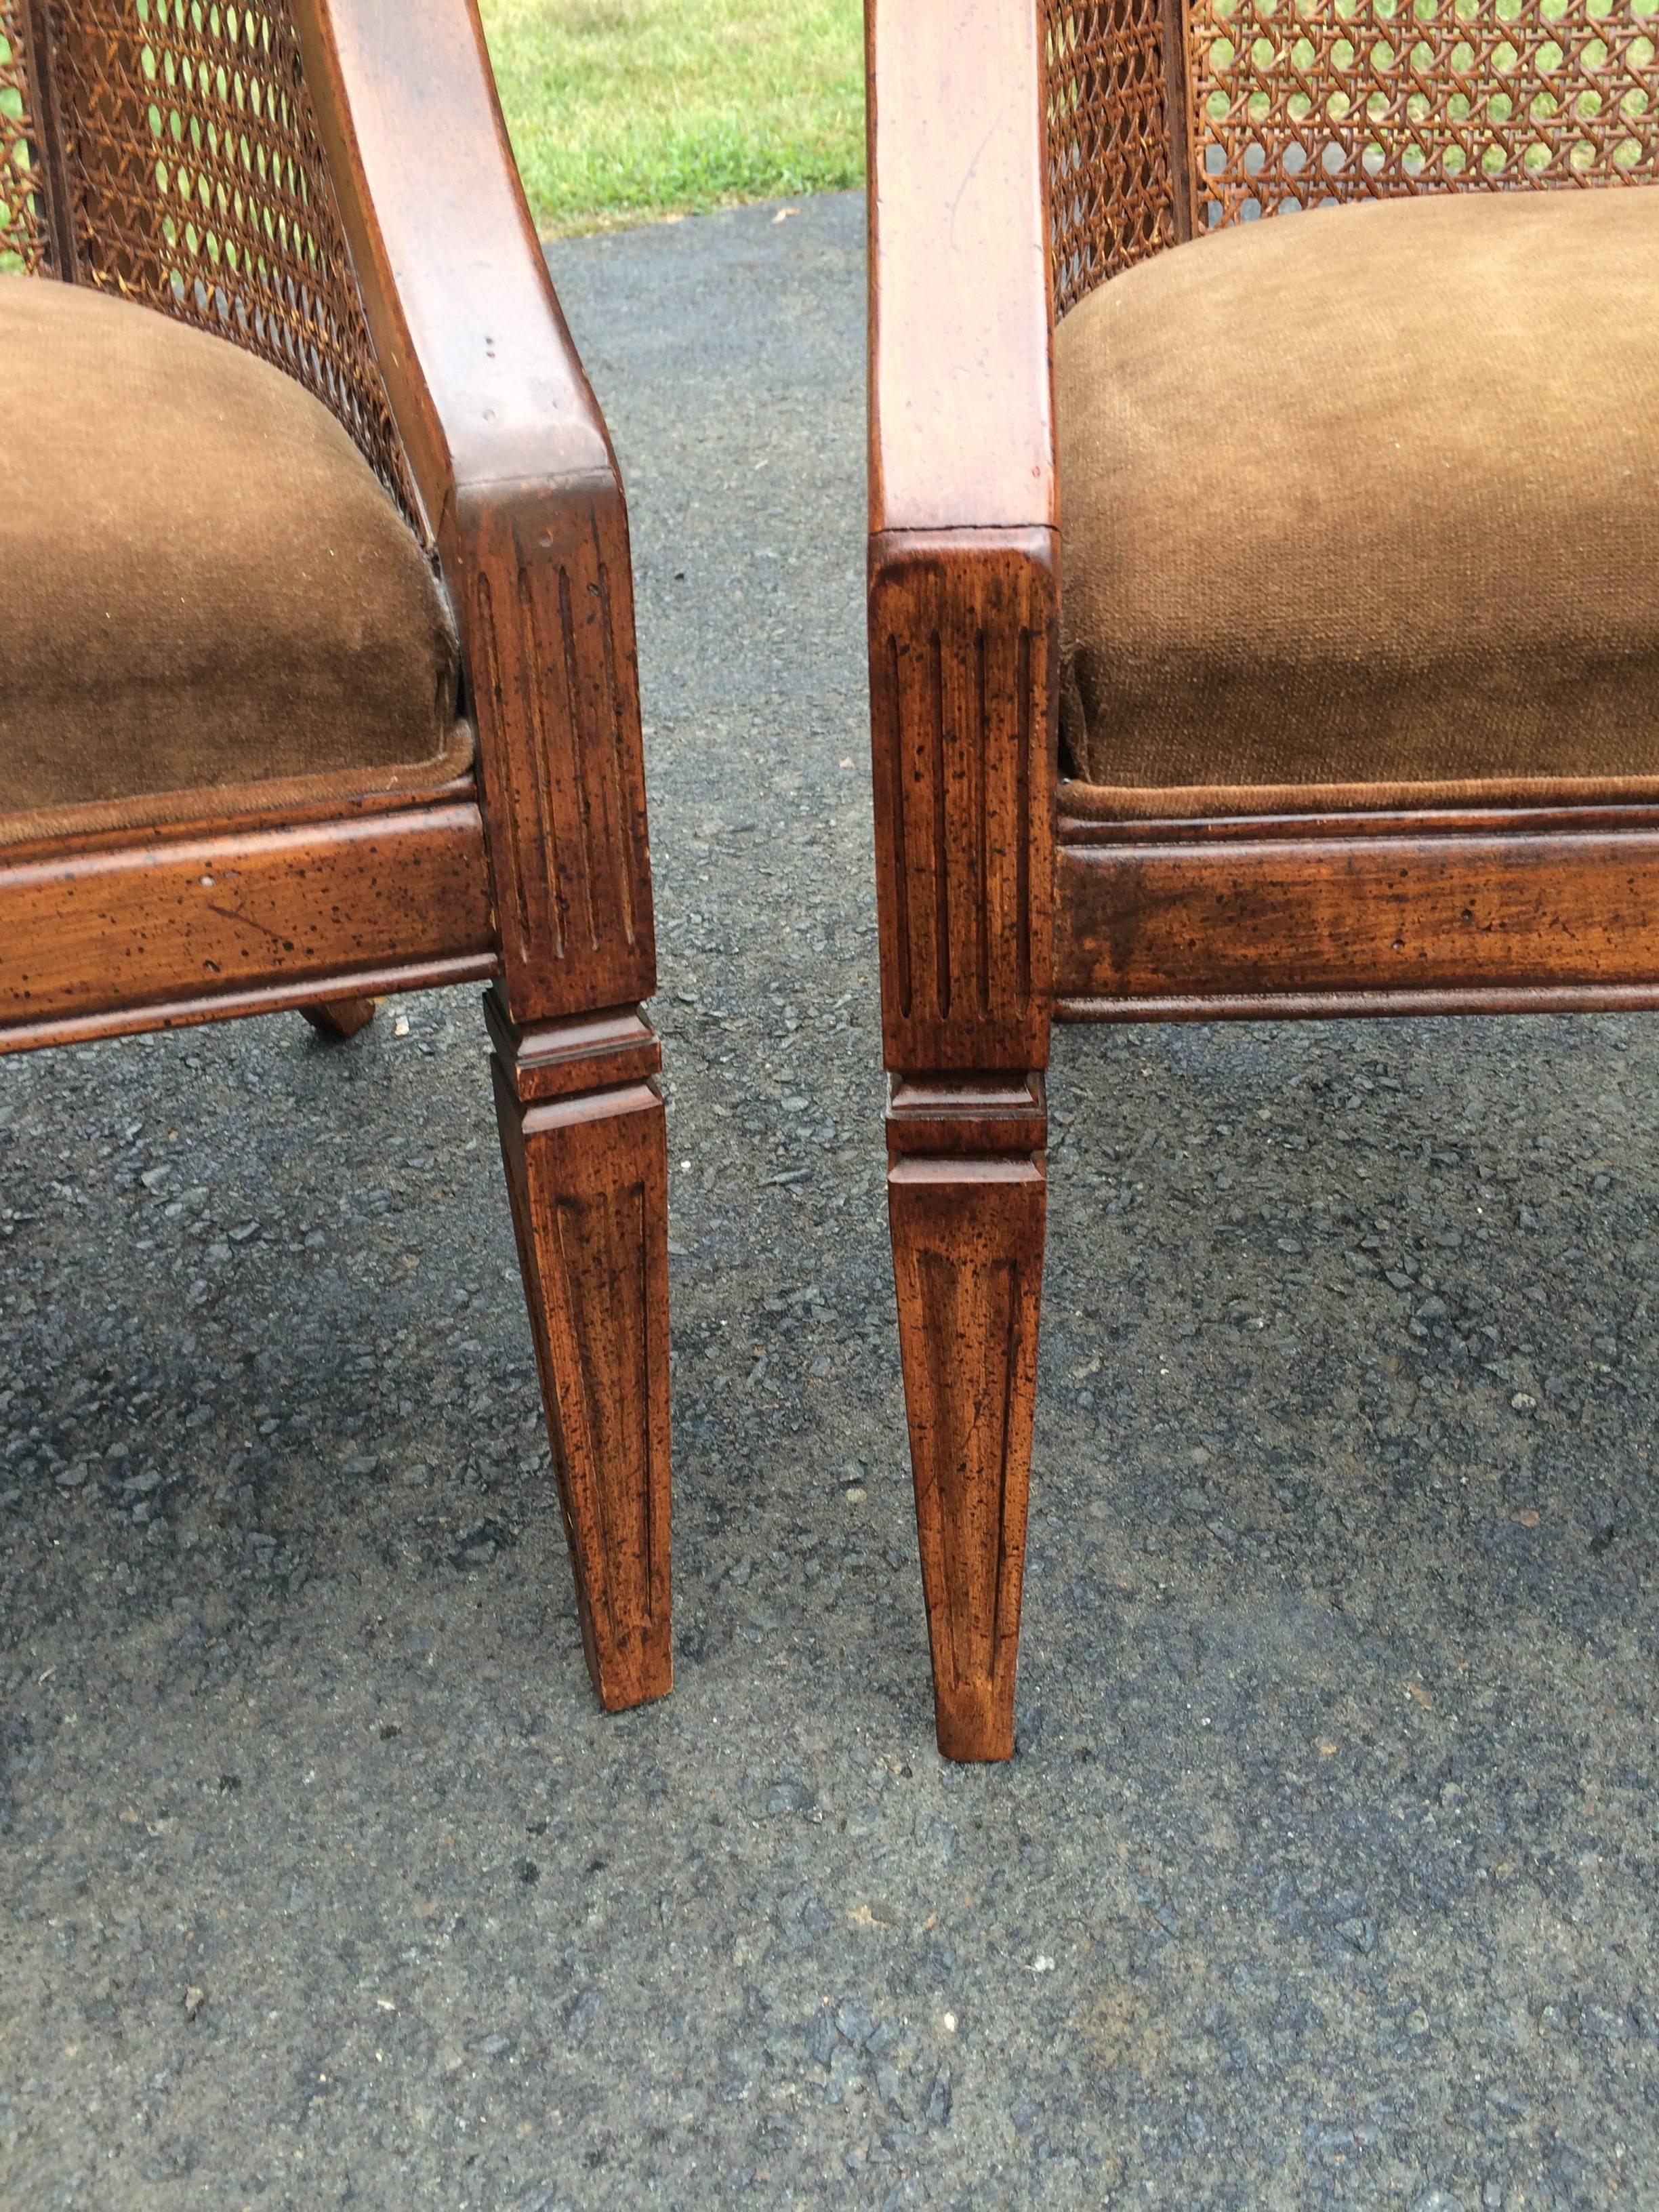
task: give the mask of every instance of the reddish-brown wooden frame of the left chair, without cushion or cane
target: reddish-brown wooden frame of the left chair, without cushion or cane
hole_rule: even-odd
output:
[[[301,184],[345,241],[294,312],[349,325],[358,403],[389,400],[358,442],[436,546],[476,781],[7,847],[0,1051],[294,1006],[349,1033],[387,991],[500,978],[502,1150],[584,1641],[604,1703],[637,1703],[672,1681],[668,1179],[639,1015],[657,978],[622,480],[476,0],[281,7],[316,133],[305,159],[321,148]],[[49,13],[31,0],[29,66],[46,230],[73,276],[86,226],[51,179],[64,148],[84,170],[100,139],[60,100],[80,80],[53,69]],[[100,66],[122,66],[115,44]],[[349,407],[343,420],[363,431]]]

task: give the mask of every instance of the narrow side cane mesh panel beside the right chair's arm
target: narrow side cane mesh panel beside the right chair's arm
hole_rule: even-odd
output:
[[[1175,241],[1159,0],[1042,0],[1055,314]]]

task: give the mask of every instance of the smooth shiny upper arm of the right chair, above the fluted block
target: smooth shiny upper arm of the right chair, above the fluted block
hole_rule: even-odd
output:
[[[1051,529],[1037,0],[867,0],[869,529]]]

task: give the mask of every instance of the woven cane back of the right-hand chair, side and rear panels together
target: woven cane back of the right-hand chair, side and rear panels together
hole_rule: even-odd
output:
[[[1053,301],[1219,223],[1659,181],[1659,0],[1042,0]]]

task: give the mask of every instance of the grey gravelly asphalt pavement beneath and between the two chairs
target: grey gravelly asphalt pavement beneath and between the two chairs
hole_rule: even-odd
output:
[[[1659,1026],[1071,1031],[1020,1754],[933,1752],[854,199],[553,268],[630,487],[679,1688],[476,993],[0,1064],[0,2205],[1659,2205]]]

